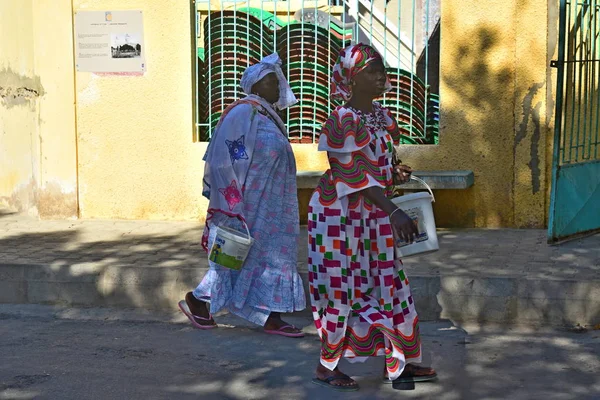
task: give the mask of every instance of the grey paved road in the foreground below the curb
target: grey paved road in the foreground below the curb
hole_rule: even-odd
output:
[[[434,383],[393,388],[380,359],[343,363],[361,385],[338,394],[312,385],[319,340],[267,336],[230,316],[193,329],[179,314],[0,305],[4,399],[600,399],[600,331],[423,323]]]

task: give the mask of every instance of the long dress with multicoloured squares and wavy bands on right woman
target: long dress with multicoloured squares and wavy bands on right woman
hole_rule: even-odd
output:
[[[336,109],[319,150],[330,169],[309,205],[308,269],[321,363],[341,357],[386,357],[390,379],[407,360],[421,361],[418,317],[402,261],[395,256],[389,216],[359,192],[378,186],[391,194],[398,125],[374,103],[372,114]]]

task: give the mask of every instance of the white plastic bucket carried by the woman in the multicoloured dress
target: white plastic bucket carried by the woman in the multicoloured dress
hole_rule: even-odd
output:
[[[396,239],[396,253],[400,257],[409,257],[416,254],[429,253],[439,250],[435,218],[433,217],[432,204],[435,201],[429,185],[416,176],[412,180],[423,184],[429,193],[418,192],[395,197],[392,202],[416,222],[419,234],[416,240],[408,244],[401,239]]]

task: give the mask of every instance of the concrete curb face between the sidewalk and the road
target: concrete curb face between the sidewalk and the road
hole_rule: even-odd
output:
[[[298,265],[308,293],[306,265]],[[143,308],[172,311],[207,271],[201,267],[0,265],[0,303]],[[600,281],[419,275],[407,268],[424,321],[594,325]],[[310,302],[309,302],[310,304]],[[309,309],[302,312],[309,315]]]

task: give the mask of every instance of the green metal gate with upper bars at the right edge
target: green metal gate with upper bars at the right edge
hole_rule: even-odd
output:
[[[600,230],[600,0],[560,1],[548,241]]]

